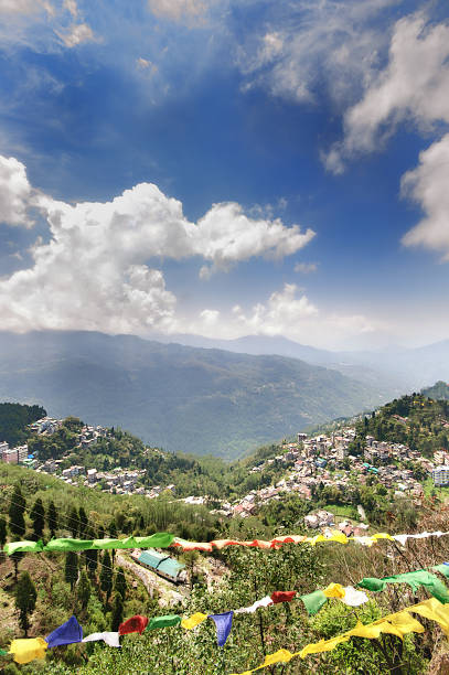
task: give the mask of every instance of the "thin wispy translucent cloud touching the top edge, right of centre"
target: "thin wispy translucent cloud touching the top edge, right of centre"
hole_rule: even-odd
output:
[[[263,35],[249,33],[238,65],[245,88],[264,86],[275,96],[312,101],[318,79],[335,101],[360,92],[373,76],[385,31],[370,22],[397,0],[302,0],[288,11],[272,6]]]

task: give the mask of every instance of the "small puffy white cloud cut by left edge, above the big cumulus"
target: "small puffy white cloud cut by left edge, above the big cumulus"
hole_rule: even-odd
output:
[[[31,227],[28,208],[32,194],[24,164],[0,156],[0,223]]]

